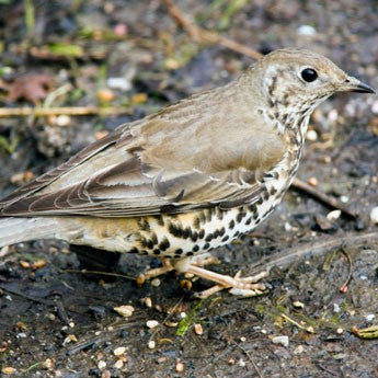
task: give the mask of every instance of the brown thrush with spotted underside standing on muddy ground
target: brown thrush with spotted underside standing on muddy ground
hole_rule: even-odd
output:
[[[118,126],[0,202],[0,247],[56,238],[162,260],[220,289],[262,294],[257,277],[205,268],[280,203],[312,111],[336,92],[375,93],[317,53],[283,48],[239,78]]]

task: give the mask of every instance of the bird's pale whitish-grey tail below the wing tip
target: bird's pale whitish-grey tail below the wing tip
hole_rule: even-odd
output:
[[[55,218],[0,218],[0,248],[22,241],[54,238],[59,225]]]

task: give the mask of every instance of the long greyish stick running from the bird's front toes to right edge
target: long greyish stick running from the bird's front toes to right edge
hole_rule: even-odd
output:
[[[367,241],[376,241],[378,242],[378,232],[368,232],[363,234],[355,234],[355,233],[347,233],[344,236],[337,236],[331,238],[325,241],[321,241],[318,243],[306,243],[303,245],[299,245],[296,248],[287,249],[286,251],[282,251],[279,256],[268,257],[264,260],[260,260],[259,263],[252,266],[251,274],[260,272],[262,268],[268,271],[273,266],[287,266],[293,261],[298,261],[299,257],[303,255],[311,254],[312,256],[323,254],[334,248],[340,248],[341,245],[357,245],[360,243],[365,243]]]

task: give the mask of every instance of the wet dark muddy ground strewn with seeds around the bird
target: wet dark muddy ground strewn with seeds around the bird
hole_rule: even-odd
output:
[[[378,88],[374,0],[176,3],[199,26],[260,53],[311,48]],[[121,123],[228,82],[253,62],[196,43],[159,0],[0,1],[0,27],[1,107],[127,110],[0,118],[1,196]],[[378,325],[377,96],[331,99],[310,130],[298,176],[359,217],[329,221],[332,208],[291,190],[254,236],[217,251],[217,272],[270,267],[265,295],[198,301],[193,293],[206,282],[188,290],[174,274],[141,287],[128,278],[157,266],[152,259],[118,262],[57,241],[3,249],[1,376],[377,377],[378,331],[364,337]],[[128,318],[114,310],[126,305]],[[368,330],[357,336],[354,328]]]

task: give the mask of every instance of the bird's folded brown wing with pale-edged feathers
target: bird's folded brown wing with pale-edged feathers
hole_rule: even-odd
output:
[[[220,119],[218,92],[118,127],[4,198],[0,214],[130,217],[256,201],[256,177],[282,159],[285,144],[265,125],[256,134],[254,114],[237,108]]]

